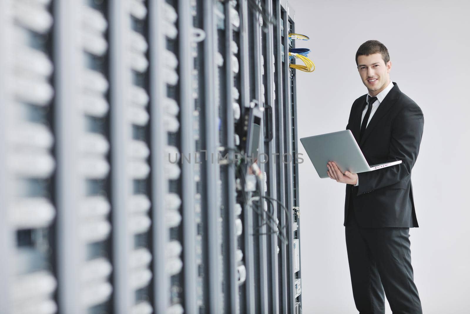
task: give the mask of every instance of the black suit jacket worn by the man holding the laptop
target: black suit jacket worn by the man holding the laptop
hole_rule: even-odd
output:
[[[345,225],[350,197],[361,227],[417,227],[411,169],[423,137],[423,112],[393,82],[359,142],[362,110],[367,95],[352,104],[350,129],[369,165],[401,160],[399,165],[358,173],[359,186],[346,185]]]

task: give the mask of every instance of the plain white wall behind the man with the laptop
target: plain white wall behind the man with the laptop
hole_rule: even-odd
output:
[[[424,113],[412,174],[420,227],[410,230],[423,312],[469,313],[470,2],[290,3],[296,31],[311,38],[297,47],[311,48],[316,64],[313,73],[297,72],[299,137],[345,129],[353,100],[367,93],[354,61],[357,48],[375,39],[389,49],[392,81]],[[299,166],[304,313],[357,313],[343,227],[345,186],[320,179],[305,158]]]

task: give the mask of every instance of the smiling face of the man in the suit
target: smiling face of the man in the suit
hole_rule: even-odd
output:
[[[370,96],[375,97],[390,83],[390,69],[392,62],[385,64],[379,53],[369,56],[357,57],[360,78],[367,87]]]

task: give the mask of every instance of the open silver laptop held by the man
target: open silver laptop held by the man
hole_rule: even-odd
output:
[[[321,178],[328,177],[328,161],[334,161],[342,173],[373,171],[401,163],[398,160],[369,166],[351,130],[303,137],[300,142]]]

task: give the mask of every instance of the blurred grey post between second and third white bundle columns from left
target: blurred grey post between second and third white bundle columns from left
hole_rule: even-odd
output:
[[[129,123],[126,121],[125,102],[130,99],[130,73],[126,71],[126,38],[130,28],[126,18],[127,3],[124,0],[110,2],[110,100],[111,100],[111,163],[113,204],[113,260],[114,260],[114,310],[128,314],[132,306],[129,287],[129,253],[131,237],[127,228],[129,186],[127,167],[127,139]]]

